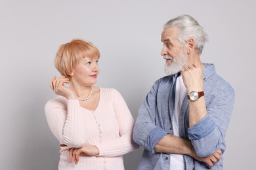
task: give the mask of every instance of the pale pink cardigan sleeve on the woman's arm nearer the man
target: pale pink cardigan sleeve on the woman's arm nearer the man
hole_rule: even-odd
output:
[[[98,156],[115,157],[122,156],[128,152],[132,152],[139,148],[133,141],[133,116],[125,100],[117,90],[112,90],[113,107],[116,113],[116,118],[119,126],[119,137],[113,141],[96,144],[99,150]]]

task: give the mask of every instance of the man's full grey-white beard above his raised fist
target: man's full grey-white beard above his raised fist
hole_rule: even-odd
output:
[[[178,58],[172,58],[171,64],[168,65],[165,62],[165,74],[173,75],[181,71],[186,62],[188,61],[188,57],[184,55],[183,52],[180,52]]]

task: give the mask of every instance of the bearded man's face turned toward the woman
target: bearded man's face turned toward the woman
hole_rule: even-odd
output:
[[[161,56],[166,59],[165,73],[167,75],[178,73],[186,64],[188,56],[184,52],[184,46],[177,39],[177,28],[164,29],[161,33],[161,41],[163,42]]]

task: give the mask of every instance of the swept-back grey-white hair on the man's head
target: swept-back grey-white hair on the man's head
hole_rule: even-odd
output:
[[[177,38],[183,45],[189,39],[194,38],[196,41],[195,48],[199,54],[202,54],[203,46],[208,41],[208,35],[192,16],[182,15],[173,18],[163,26],[163,29],[170,27],[177,27],[179,29]]]

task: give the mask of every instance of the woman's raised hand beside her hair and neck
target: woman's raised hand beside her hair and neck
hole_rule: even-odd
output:
[[[50,82],[50,87],[57,95],[62,95],[67,99],[75,99],[74,92],[70,88],[64,86],[64,84],[68,84],[69,82],[70,80],[65,78],[65,76],[60,76],[58,78],[54,76]]]

